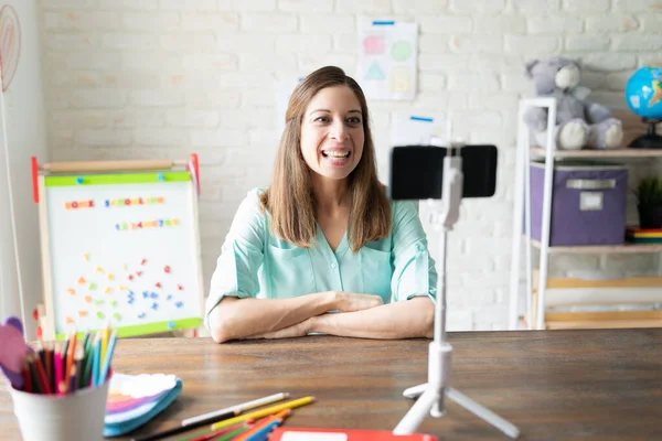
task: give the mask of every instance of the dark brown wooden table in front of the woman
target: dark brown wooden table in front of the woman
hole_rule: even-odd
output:
[[[523,440],[662,440],[662,330],[449,334],[451,384],[519,426]],[[178,399],[136,433],[254,398],[289,391],[317,402],[289,427],[392,430],[427,378],[427,340],[310,336],[217,345],[209,338],[122,340],[114,367],[182,378]],[[440,440],[506,440],[453,402],[419,431]],[[0,390],[0,439],[20,439]],[[116,438],[119,440],[120,438]]]

